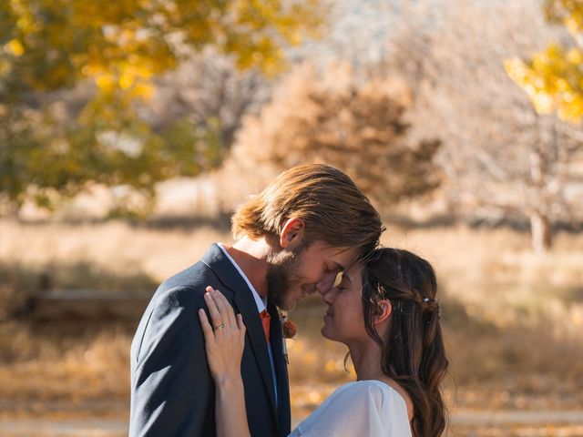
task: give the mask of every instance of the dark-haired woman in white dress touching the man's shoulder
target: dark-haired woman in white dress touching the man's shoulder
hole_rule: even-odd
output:
[[[292,436],[437,437],[445,429],[440,382],[448,361],[431,265],[401,249],[375,249],[322,294],[322,335],[348,346],[357,381],[344,384]],[[245,326],[219,291],[199,311],[217,391],[221,437],[250,435],[240,378]],[[243,430],[243,431],[241,431]]]

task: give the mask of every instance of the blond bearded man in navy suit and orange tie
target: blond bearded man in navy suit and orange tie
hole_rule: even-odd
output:
[[[130,437],[214,436],[215,391],[197,311],[207,286],[247,326],[241,374],[251,435],[288,435],[290,391],[277,307],[332,288],[383,226],[353,181],[324,165],[291,168],[235,213],[232,246],[213,244],[164,281],[131,345]],[[221,325],[214,327],[220,330]]]

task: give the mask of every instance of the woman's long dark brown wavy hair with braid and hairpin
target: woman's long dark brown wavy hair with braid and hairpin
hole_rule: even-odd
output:
[[[449,361],[436,291],[431,264],[407,250],[375,249],[367,257],[363,270],[364,324],[381,347],[384,374],[411,396],[415,437],[439,437],[445,429],[440,384]],[[380,300],[389,300],[393,306],[386,340],[373,325]]]

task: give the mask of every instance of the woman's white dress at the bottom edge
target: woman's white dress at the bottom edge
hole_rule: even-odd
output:
[[[403,397],[381,381],[344,384],[290,437],[411,437]]]

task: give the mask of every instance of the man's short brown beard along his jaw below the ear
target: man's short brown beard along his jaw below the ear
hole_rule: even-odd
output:
[[[278,308],[289,310],[285,304],[285,298],[290,290],[298,285],[298,267],[300,265],[300,252],[304,244],[292,250],[280,250],[271,253],[267,262],[267,299]]]

